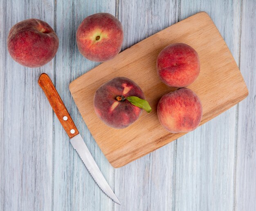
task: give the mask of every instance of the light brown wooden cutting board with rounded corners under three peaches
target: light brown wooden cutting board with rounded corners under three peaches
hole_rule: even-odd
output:
[[[157,118],[159,99],[175,90],[164,85],[156,73],[157,55],[171,43],[186,43],[199,54],[201,71],[188,88],[198,94],[202,101],[203,117],[200,124],[213,119],[248,95],[238,66],[207,13],[197,13],[142,40],[70,83],[70,92],[86,125],[115,168],[185,134],[167,132]],[[106,126],[96,116],[93,107],[97,88],[117,76],[135,81],[153,109],[150,114],[144,111],[135,123],[124,129]]]

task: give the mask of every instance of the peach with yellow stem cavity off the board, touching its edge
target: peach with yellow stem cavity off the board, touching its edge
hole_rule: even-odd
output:
[[[109,13],[88,16],[76,31],[79,52],[97,62],[114,58],[121,50],[123,39],[121,22]]]

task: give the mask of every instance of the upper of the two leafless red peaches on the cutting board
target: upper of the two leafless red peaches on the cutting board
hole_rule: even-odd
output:
[[[168,86],[186,87],[195,81],[199,72],[198,53],[184,43],[168,45],[157,56],[157,75]]]

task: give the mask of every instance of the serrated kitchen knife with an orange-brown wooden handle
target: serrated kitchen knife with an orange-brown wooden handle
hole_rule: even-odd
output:
[[[70,114],[67,111],[61,97],[59,96],[57,90],[55,89],[51,79],[45,73],[41,74],[38,79],[38,84],[45,92],[46,97],[49,100],[49,103],[52,106],[56,116],[58,117],[59,121],[61,122],[63,128],[67,132],[67,135],[70,137],[70,142],[80,158],[82,159],[83,163],[85,164],[86,168],[88,169],[89,173],[91,174],[92,178],[98,184],[100,189],[115,203],[120,204],[119,200],[117,199],[115,193],[112,191],[108,182],[103,177],[99,167],[97,166],[96,162],[94,161],[90,151],[88,150],[83,138],[79,134],[73,120],[70,117]]]

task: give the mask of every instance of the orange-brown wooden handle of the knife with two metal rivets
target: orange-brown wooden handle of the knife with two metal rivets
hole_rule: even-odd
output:
[[[45,92],[45,95],[48,98],[52,109],[58,117],[58,120],[61,122],[63,128],[67,132],[67,135],[70,138],[78,135],[79,132],[49,76],[45,73],[41,74],[38,79],[38,84]]]

